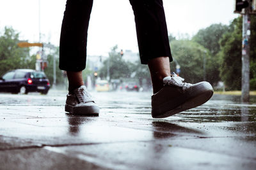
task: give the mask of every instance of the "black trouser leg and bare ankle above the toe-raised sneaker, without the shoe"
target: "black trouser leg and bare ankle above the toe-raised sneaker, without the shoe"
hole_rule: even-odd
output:
[[[136,22],[141,64],[148,64],[154,93],[170,76],[172,54],[162,0],[130,0]]]

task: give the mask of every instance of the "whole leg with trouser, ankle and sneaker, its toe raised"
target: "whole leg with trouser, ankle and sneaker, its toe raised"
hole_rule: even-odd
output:
[[[184,83],[170,74],[172,55],[162,0],[130,0],[134,11],[141,64],[148,64],[152,78],[152,117],[170,117],[208,101],[212,86],[208,82]]]

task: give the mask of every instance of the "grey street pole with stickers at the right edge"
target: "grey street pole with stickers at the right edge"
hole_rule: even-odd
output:
[[[249,4],[249,6],[251,6]],[[250,100],[250,8],[244,9],[242,43],[242,102]]]

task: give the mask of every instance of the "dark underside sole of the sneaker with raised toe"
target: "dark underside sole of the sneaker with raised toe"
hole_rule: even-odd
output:
[[[186,101],[183,104],[180,104],[180,106],[178,106],[177,108],[174,108],[173,110],[166,111],[161,114],[158,113],[157,115],[152,114],[152,117],[153,118],[166,118],[166,117],[175,115],[177,113],[180,113],[182,111],[196,108],[197,106],[200,106],[200,105],[206,103],[207,101],[209,101],[209,99],[211,99],[212,95],[213,95],[212,89],[206,90],[202,94],[189,99],[188,101]]]

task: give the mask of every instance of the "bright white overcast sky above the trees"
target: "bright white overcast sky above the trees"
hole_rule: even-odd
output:
[[[139,0],[138,0],[139,1]],[[229,24],[234,0],[163,0],[168,32],[174,36],[193,36],[211,24]],[[12,26],[20,39],[59,45],[65,0],[0,0],[0,31]],[[110,48],[138,52],[134,15],[129,0],[94,0],[88,31],[88,55],[107,55]]]

